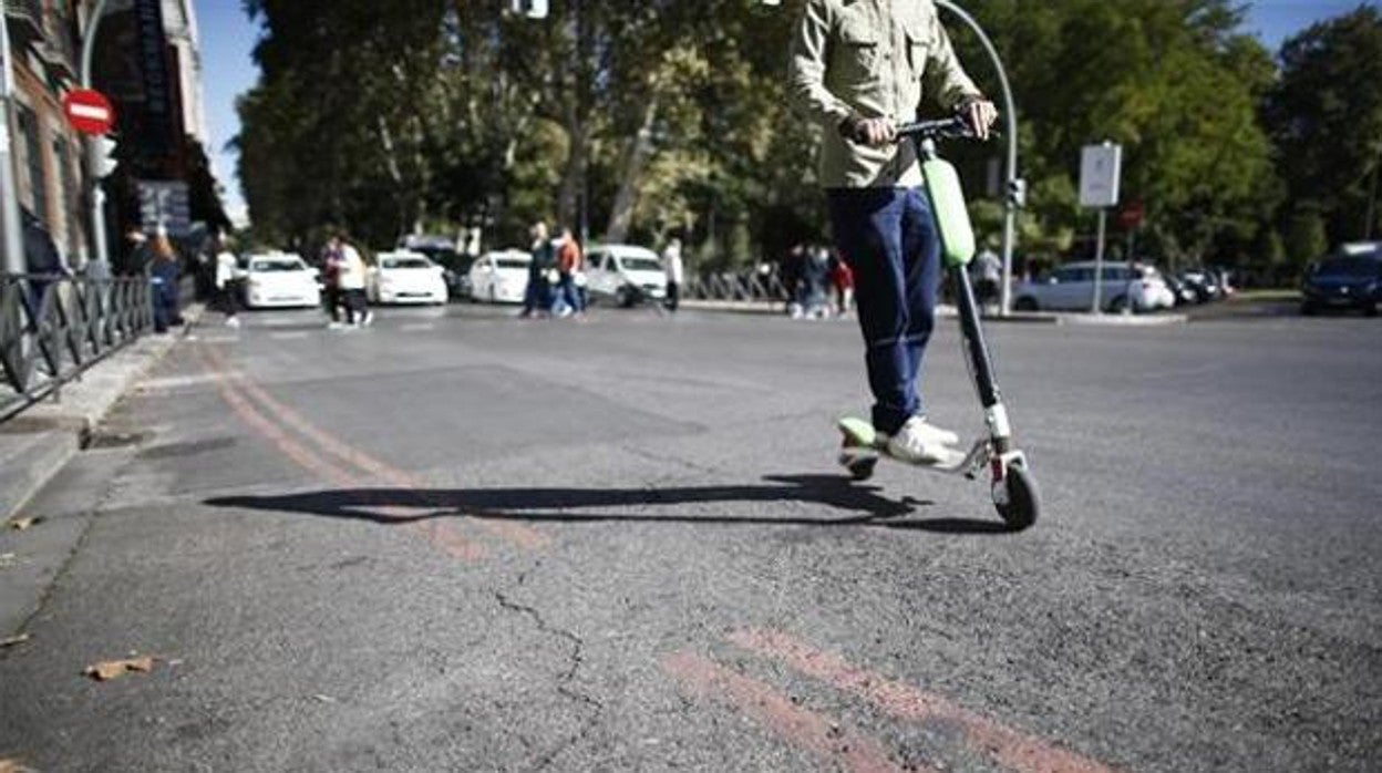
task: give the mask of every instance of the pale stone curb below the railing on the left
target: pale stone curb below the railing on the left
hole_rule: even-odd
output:
[[[0,523],[18,514],[82,449],[120,397],[187,335],[205,307],[182,313],[174,335],[145,335],[93,365],[55,397],[0,423]]]

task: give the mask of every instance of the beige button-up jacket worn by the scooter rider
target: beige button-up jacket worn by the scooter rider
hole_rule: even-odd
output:
[[[922,184],[911,142],[850,142],[839,131],[846,119],[915,120],[923,91],[945,109],[981,97],[931,0],[806,0],[792,37],[788,90],[799,112],[825,126],[826,188]]]

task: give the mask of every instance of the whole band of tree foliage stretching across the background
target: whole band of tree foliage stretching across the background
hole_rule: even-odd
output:
[[[238,138],[252,217],[279,241],[328,224],[375,245],[484,224],[504,246],[532,220],[583,216],[591,238],[681,234],[703,268],[824,239],[820,130],[789,111],[784,83],[803,1],[553,0],[535,21],[507,0],[399,0],[388,12],[249,0],[264,29]],[[1278,83],[1233,0],[965,7],[1017,97],[1030,180],[1020,254],[1054,263],[1090,249],[1079,151],[1106,138],[1125,147],[1124,201],[1144,203],[1139,252],[1155,259],[1273,264],[1260,252],[1289,231],[1277,214],[1287,191],[1318,202],[1331,230],[1359,221],[1382,144],[1375,10],[1292,41]],[[977,40],[947,26],[996,95]],[[969,188],[996,148],[949,151]],[[974,214],[983,236],[1001,228],[996,199],[980,196]]]

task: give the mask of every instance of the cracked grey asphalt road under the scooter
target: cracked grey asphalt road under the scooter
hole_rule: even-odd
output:
[[[844,480],[850,322],[510,314],[193,330],[3,538],[83,530],[0,759],[1376,770],[1382,324],[992,326],[1045,495],[1007,534],[983,484]],[[926,395],[974,433],[958,343]]]

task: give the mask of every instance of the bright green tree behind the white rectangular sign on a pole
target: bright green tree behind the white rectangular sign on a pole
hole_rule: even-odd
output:
[[[965,4],[1005,57],[1023,120],[1021,170],[1032,181],[1038,253],[1092,245],[1079,212],[1081,147],[1124,145],[1124,202],[1143,202],[1143,243],[1198,261],[1251,239],[1277,187],[1256,120],[1270,54],[1238,32],[1227,0],[976,0]],[[991,94],[983,51],[951,25],[962,58]],[[1083,236],[1079,239],[1078,236]]]

